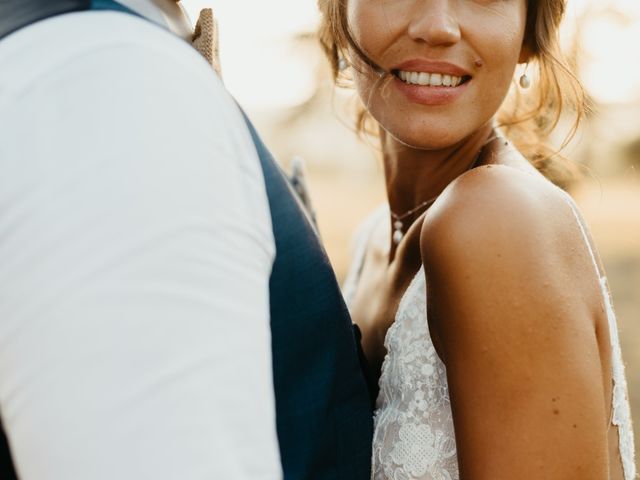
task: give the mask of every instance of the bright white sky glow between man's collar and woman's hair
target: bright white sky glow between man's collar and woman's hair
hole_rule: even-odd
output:
[[[290,39],[312,30],[315,0],[188,0],[195,21],[201,8],[211,7],[220,26],[225,83],[250,110],[296,105],[315,88],[313,66]]]

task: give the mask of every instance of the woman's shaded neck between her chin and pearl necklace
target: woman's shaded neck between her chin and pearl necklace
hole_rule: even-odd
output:
[[[441,150],[420,150],[380,132],[390,210],[403,215],[437,197],[454,179],[476,165],[482,147],[493,136],[491,123],[461,142]],[[425,205],[425,209],[428,205]],[[405,220],[410,225],[424,209]]]

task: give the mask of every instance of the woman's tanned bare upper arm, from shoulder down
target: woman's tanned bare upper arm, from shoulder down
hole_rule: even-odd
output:
[[[578,234],[559,233],[572,216],[558,192],[509,170],[463,180],[422,232],[461,478],[606,478],[593,303],[577,278],[593,267],[570,253]]]

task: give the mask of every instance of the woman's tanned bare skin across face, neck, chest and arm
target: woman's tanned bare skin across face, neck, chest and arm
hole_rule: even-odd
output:
[[[525,0],[349,0],[353,36],[382,69],[426,58],[472,76],[454,103],[425,106],[352,58],[380,125],[391,210],[440,195],[407,219],[400,244],[391,218],[376,227],[352,316],[379,375],[387,329],[424,267],[461,479],[621,480],[608,324],[579,227],[510,143],[483,147],[530,57],[526,15]]]

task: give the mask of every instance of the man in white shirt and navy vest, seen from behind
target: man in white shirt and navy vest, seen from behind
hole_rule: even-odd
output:
[[[369,478],[334,274],[193,40],[170,0],[0,0],[0,478]]]

